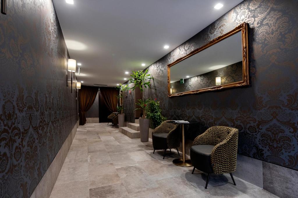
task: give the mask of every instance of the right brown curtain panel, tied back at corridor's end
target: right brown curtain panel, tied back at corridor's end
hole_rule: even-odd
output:
[[[112,87],[100,87],[99,89],[105,105],[111,112],[116,112],[118,90]]]

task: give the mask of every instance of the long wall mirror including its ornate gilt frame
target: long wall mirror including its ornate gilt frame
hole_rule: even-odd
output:
[[[168,65],[168,96],[249,85],[247,24]]]

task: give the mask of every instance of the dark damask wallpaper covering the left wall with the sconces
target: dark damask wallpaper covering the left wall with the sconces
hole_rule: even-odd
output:
[[[51,0],[7,1],[7,15],[0,14],[0,197],[30,197],[76,124],[68,58]]]

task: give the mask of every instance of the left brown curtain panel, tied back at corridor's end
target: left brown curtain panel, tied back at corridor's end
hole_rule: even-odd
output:
[[[81,86],[79,89],[79,97],[80,97],[80,125],[86,124],[85,113],[92,106],[96,95],[98,93],[98,87],[91,86]]]

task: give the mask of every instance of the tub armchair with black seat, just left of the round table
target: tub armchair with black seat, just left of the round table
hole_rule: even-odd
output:
[[[152,132],[152,144],[155,150],[163,150],[164,156],[167,149],[176,148],[178,154],[178,147],[180,146],[180,127],[178,124],[168,123],[169,120],[162,122]],[[180,155],[180,154],[179,154]]]

